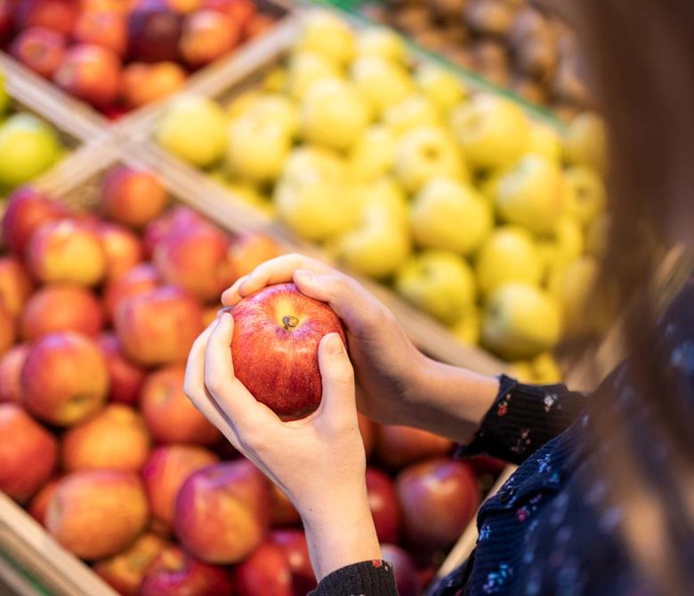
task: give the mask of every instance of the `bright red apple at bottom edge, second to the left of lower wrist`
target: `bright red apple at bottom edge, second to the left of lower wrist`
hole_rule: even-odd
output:
[[[292,570],[278,544],[265,542],[234,569],[238,596],[293,596]]]

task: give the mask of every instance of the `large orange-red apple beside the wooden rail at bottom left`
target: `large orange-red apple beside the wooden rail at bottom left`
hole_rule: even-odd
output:
[[[133,472],[76,471],[58,483],[45,526],[69,552],[99,560],[132,544],[148,515],[142,481]]]

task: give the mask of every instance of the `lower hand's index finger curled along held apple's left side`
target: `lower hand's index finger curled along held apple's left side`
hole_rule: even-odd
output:
[[[233,334],[234,319],[229,312],[225,312],[207,340],[205,386],[222,412],[230,417],[239,439],[243,439],[247,431],[280,421],[270,408],[257,401],[234,376],[231,360]]]

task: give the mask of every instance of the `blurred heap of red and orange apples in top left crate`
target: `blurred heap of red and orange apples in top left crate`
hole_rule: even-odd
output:
[[[0,44],[64,91],[118,117],[272,27],[253,0],[3,0]]]

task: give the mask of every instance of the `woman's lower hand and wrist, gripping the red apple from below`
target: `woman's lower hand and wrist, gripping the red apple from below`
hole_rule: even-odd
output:
[[[381,551],[367,500],[354,373],[338,334],[319,344],[323,395],[316,412],[282,422],[234,376],[233,318],[223,312],[198,337],[186,395],[230,443],[280,487],[302,516],[317,578]]]

